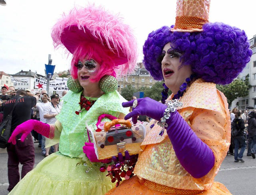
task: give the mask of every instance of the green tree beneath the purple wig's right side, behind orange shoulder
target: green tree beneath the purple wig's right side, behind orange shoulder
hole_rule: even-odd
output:
[[[228,85],[216,85],[216,87],[218,90],[224,93],[227,98],[228,104],[231,105],[236,98],[248,96],[249,89],[252,86],[249,84],[248,74],[246,75],[245,80],[237,78]]]

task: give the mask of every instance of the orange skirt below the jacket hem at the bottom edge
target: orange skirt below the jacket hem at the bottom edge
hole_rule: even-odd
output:
[[[209,190],[200,191],[198,193],[193,193],[193,190],[190,190],[191,193],[185,192],[182,193],[182,189],[176,189],[176,193],[164,193],[161,191],[155,191],[153,189],[148,189],[145,185],[142,185],[139,178],[134,176],[128,180],[124,180],[118,187],[112,188],[105,195],[122,195],[122,194],[140,194],[140,195],[231,195],[230,191],[222,184],[214,182],[212,188]]]

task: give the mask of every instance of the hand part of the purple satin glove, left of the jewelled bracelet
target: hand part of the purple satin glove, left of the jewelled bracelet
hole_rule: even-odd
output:
[[[132,112],[128,113],[124,117],[125,120],[132,118],[132,122],[136,124],[139,115],[146,115],[158,121],[160,121],[161,118],[164,116],[164,110],[167,108],[165,104],[162,104],[161,102],[153,100],[149,97],[139,98],[136,100],[138,101],[137,106],[135,108],[132,108]],[[132,106],[133,102],[134,100],[131,100],[129,102],[123,102],[122,106],[130,107]]]

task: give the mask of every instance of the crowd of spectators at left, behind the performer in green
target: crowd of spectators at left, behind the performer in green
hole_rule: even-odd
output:
[[[67,91],[63,91],[62,96]],[[1,99],[1,114],[2,119],[10,113],[14,108],[15,102],[18,102],[12,112],[11,132],[22,122],[31,118],[42,121],[48,124],[54,124],[55,116],[60,113],[61,106],[59,104],[60,97],[58,94],[48,96],[46,90],[41,90],[40,93],[32,94],[29,90],[18,89],[13,86],[2,87]],[[26,139],[21,142],[21,134],[16,138],[17,144],[7,144],[8,153],[8,191],[11,191],[14,186],[34,167],[34,142],[39,142],[38,147],[42,148],[43,156],[49,156],[50,147],[45,148],[46,138],[36,131],[32,130]],[[58,144],[54,145],[53,152],[58,151]],[[22,164],[21,176],[19,174],[19,163]]]

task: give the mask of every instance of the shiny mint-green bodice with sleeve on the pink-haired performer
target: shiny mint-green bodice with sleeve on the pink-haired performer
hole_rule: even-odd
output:
[[[80,110],[78,102],[80,102],[81,93],[69,91],[63,97],[64,103],[60,114],[56,116],[62,125],[59,151],[70,157],[84,157],[82,147],[84,142],[88,142],[85,122],[96,129],[95,124],[101,114],[118,117],[120,113],[126,115],[129,112],[128,108],[122,107],[122,102],[127,100],[115,91],[102,95],[88,111],[84,110],[82,114],[77,115],[75,112]]]

